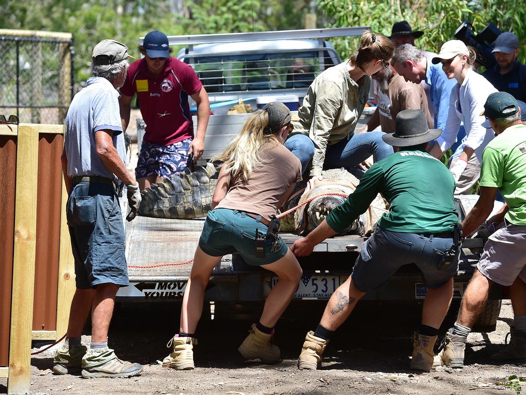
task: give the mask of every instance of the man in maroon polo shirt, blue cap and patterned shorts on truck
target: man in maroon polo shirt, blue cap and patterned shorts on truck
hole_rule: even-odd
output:
[[[170,56],[166,34],[153,31],[139,47],[144,58],[131,63],[120,88],[120,118],[126,130],[131,100],[137,94],[146,133],[135,176],[140,189],[186,169],[190,154],[203,155],[210,103],[193,68]],[[190,115],[188,96],[197,103],[197,133]]]

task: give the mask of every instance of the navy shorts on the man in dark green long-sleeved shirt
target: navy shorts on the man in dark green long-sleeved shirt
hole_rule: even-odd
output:
[[[458,257],[454,263],[440,266],[444,253],[452,245],[452,237],[391,232],[377,226],[362,245],[352,270],[352,282],[367,293],[386,283],[401,266],[414,263],[422,272],[426,287],[439,288],[458,270]]]

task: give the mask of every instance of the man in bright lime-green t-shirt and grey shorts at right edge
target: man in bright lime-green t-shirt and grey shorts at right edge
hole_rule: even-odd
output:
[[[506,92],[488,96],[484,104],[487,121],[495,138],[482,153],[480,197],[462,223],[464,235],[477,230],[488,218],[500,190],[506,204],[488,223],[504,222],[484,245],[477,271],[464,292],[457,322],[446,334],[440,357],[453,368],[464,366],[466,340],[484,309],[493,282],[509,286],[514,327],[506,349],[494,359],[526,359],[526,125],[521,122],[517,100]]]

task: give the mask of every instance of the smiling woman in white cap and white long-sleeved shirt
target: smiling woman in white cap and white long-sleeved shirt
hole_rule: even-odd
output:
[[[458,158],[451,161],[450,165],[450,171],[457,185],[463,183],[464,189],[467,181],[471,181],[471,185],[477,182],[480,175],[482,151],[494,137],[492,129],[482,126],[485,118],[480,114],[484,110],[484,103],[488,96],[497,90],[488,80],[473,70],[476,58],[477,55],[473,48],[467,47],[460,40],[450,40],[442,45],[440,53],[432,59],[434,64],[442,63],[442,70],[447,77],[450,80],[456,78],[458,84],[451,90],[448,120],[442,134],[437,139],[438,144],[434,144],[431,149],[431,154],[440,159],[455,142],[460,123],[464,123],[467,136],[464,149]],[[462,173],[466,172],[468,161],[473,154],[479,160],[476,176],[466,174],[463,176]],[[471,180],[463,180],[468,177]]]

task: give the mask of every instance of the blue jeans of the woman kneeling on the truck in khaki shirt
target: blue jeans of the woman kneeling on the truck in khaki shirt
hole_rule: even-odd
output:
[[[350,171],[352,167],[373,156],[375,162],[393,153],[392,147],[382,140],[383,132],[368,132],[353,135],[350,140],[343,139],[336,144],[329,145],[325,154],[324,169],[338,169],[345,167]],[[285,146],[298,157],[301,171],[305,172],[308,163],[314,156],[314,144],[304,134],[290,137]]]

